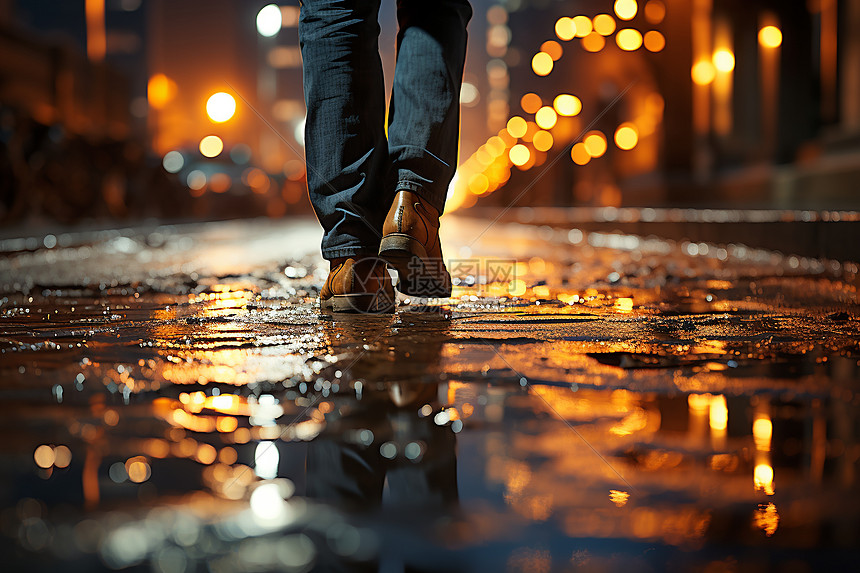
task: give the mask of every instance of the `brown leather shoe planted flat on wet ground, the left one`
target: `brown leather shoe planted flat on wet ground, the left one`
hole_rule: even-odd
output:
[[[385,261],[376,257],[335,259],[320,290],[320,310],[394,312],[394,287]]]

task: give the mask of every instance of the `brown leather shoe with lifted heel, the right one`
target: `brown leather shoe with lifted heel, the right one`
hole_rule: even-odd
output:
[[[451,296],[451,275],[439,245],[439,211],[411,191],[398,191],[382,226],[379,256],[397,269],[400,292]]]

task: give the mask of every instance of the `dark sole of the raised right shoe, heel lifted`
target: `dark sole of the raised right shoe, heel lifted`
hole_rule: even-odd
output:
[[[451,296],[451,275],[448,282],[427,270],[427,250],[417,239],[402,233],[391,233],[379,243],[379,256],[397,270],[400,278],[397,288],[410,296],[444,298]],[[441,261],[440,261],[441,262]]]

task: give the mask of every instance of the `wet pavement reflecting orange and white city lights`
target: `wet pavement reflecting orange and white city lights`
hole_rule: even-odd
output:
[[[318,314],[312,221],[7,242],[7,563],[854,567],[856,266],[446,225],[388,317]]]

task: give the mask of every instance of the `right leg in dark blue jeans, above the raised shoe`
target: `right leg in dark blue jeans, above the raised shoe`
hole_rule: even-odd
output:
[[[440,213],[457,168],[460,84],[471,16],[466,0],[397,2],[388,189],[412,191]]]

